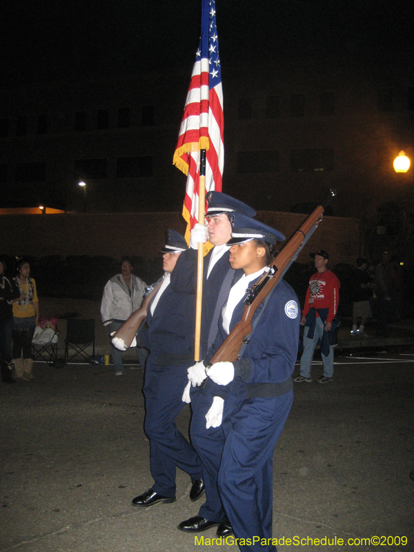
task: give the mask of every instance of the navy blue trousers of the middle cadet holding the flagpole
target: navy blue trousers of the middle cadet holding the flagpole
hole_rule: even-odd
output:
[[[217,477],[224,447],[224,431],[221,426],[206,429],[206,413],[213,403],[213,395],[208,389],[191,388],[191,418],[190,435],[203,466],[204,485],[206,486],[206,502],[201,505],[199,515],[211,522],[221,522],[224,509],[219,497]]]

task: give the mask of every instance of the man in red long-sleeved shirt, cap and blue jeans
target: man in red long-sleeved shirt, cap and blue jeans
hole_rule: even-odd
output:
[[[319,384],[328,384],[333,381],[333,346],[331,346],[331,343],[339,323],[337,307],[340,284],[335,274],[327,268],[329,255],[325,250],[320,249],[316,253],[311,253],[311,257],[315,257],[317,272],[309,280],[305,304],[302,309],[300,323],[305,326],[304,352],[300,359],[300,374],[294,377],[293,381],[297,383],[312,382],[313,353],[320,340],[324,375],[316,381]]]

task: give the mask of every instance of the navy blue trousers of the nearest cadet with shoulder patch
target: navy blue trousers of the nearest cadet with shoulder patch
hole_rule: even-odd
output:
[[[292,403],[293,391],[263,399],[239,400],[231,393],[226,397],[226,443],[218,486],[235,537],[252,541],[239,544],[242,552],[276,550],[268,541],[272,538],[273,449]]]

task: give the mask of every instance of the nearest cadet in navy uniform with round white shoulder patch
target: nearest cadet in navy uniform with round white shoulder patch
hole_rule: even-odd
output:
[[[231,288],[221,313],[219,335],[208,357],[242,318],[246,288],[262,275],[284,236],[235,213],[229,262],[244,272]],[[274,551],[272,538],[273,449],[293,402],[291,374],[299,341],[299,302],[280,280],[253,317],[253,333],[236,362],[208,370],[216,385],[206,426],[226,435],[218,488],[240,549]],[[206,362],[206,361],[205,361]],[[201,379],[201,378],[200,378]]]

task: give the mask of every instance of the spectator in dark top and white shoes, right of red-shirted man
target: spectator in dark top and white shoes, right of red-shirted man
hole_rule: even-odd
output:
[[[357,269],[354,271],[353,288],[353,318],[351,335],[366,337],[365,324],[372,317],[371,299],[373,297],[373,282],[368,273],[368,261],[364,257],[358,257]],[[359,328],[358,328],[359,319]]]

